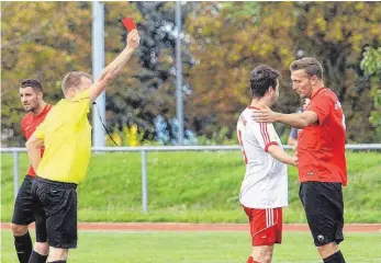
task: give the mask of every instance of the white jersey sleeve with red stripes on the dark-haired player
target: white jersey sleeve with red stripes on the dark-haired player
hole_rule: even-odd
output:
[[[260,148],[262,148],[266,152],[271,145],[278,145],[277,132],[271,123],[255,123],[253,126],[253,134]]]

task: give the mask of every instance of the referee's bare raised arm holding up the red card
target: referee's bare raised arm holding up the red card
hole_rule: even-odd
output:
[[[104,91],[105,87],[111,83],[119,75],[121,69],[126,65],[131,55],[139,45],[141,37],[136,30],[128,33],[127,45],[123,52],[109,64],[101,72],[101,76],[90,88],[90,101],[91,103]]]

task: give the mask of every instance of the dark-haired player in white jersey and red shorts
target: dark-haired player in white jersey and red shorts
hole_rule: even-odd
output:
[[[272,106],[279,96],[280,75],[269,66],[250,73],[253,100],[240,114],[237,135],[246,173],[240,187],[240,204],[249,218],[253,251],[247,263],[271,262],[273,244],[281,243],[282,207],[288,206],[287,164],[296,165],[296,157],[282,149],[272,124],[257,123],[253,108]]]

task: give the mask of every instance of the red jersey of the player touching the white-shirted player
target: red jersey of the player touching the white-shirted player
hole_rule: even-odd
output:
[[[321,88],[305,111],[316,113],[318,123],[299,133],[298,169],[300,182],[336,182],[347,185],[345,116],[336,94]]]

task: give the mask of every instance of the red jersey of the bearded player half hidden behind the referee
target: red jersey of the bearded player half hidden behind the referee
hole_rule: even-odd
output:
[[[44,110],[38,114],[34,115],[32,112],[26,113],[26,115],[21,119],[21,130],[25,137],[26,140],[31,138],[33,135],[34,130],[37,128],[37,126],[44,122],[47,113],[51,111],[52,105],[46,104]],[[44,155],[44,147],[41,147],[41,156]],[[35,176],[36,173],[32,165],[30,165],[27,173],[31,176]]]

